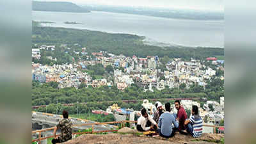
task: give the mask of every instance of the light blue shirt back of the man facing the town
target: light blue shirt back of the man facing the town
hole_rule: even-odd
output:
[[[161,128],[161,134],[164,136],[170,136],[172,134],[172,124],[178,127],[174,116],[170,112],[163,113],[159,118],[158,127]]]

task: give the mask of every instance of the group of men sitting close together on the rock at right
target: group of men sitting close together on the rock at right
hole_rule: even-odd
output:
[[[153,116],[148,115],[147,109],[141,109],[141,116],[136,125],[138,131],[155,131],[164,138],[171,138],[176,131],[179,131],[180,134],[191,134],[194,138],[202,135],[203,121],[199,116],[197,106],[192,106],[190,118],[187,118],[187,113],[180,106],[179,100],[175,100],[177,113],[170,113],[170,102],[164,104],[165,110],[161,102],[156,102],[156,108],[157,111]]]

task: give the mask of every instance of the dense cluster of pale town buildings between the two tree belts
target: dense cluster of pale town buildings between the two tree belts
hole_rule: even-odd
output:
[[[67,45],[61,45],[61,47],[67,47]],[[41,45],[38,49],[32,49],[33,58],[40,58],[41,49],[54,51],[56,48],[55,45]],[[59,88],[69,86],[77,88],[80,83],[85,83],[92,87],[115,85],[119,90],[124,90],[132,84],[136,84],[144,88],[145,91],[154,92],[154,88],[157,90],[163,90],[166,87],[179,88],[182,83],[186,84],[186,88],[189,88],[191,84],[205,86],[207,79],[216,75],[215,70],[206,67],[200,60],[182,61],[180,58],[175,58],[166,63],[164,65],[166,70],[162,71],[158,66],[163,65],[163,63],[159,61],[158,56],[147,56],[146,58],[127,57],[123,54],[116,56],[106,51],[92,52],[92,55],[88,55],[86,47],[81,48],[80,52],[83,53],[83,56],[87,56],[87,59],[79,59],[78,62],[70,65],[49,67],[33,64],[33,80],[42,83],[56,81],[60,83]],[[56,58],[49,57],[49,59],[56,61]],[[216,67],[223,69],[218,65],[223,61],[218,61],[216,58],[208,58],[207,60],[211,60],[212,63],[216,64]],[[110,65],[115,69],[114,72],[111,72],[111,78],[92,80],[91,76],[81,72],[81,69],[86,70],[88,65],[96,65],[97,63],[102,64],[104,68]]]

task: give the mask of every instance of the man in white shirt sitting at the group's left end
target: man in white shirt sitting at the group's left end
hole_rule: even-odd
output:
[[[138,119],[136,128],[138,131],[154,131],[154,129],[157,129],[157,123],[151,118],[151,116],[148,116],[145,108],[141,109],[141,116]]]

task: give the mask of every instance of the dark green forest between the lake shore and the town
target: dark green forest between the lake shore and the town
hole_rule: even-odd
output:
[[[125,56],[168,56],[169,58],[184,58],[190,60],[194,57],[198,60],[209,56],[223,56],[224,49],[213,47],[157,47],[143,44],[143,36],[104,33],[100,31],[88,31],[66,28],[40,27],[33,24],[33,44],[80,44],[87,51],[108,51],[113,54]],[[76,49],[77,51],[79,49]],[[81,51],[81,49],[80,49]]]

